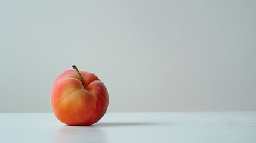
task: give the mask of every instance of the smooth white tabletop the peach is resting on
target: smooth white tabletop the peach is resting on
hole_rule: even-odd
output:
[[[107,113],[67,126],[53,113],[0,113],[0,142],[256,142],[256,113]]]

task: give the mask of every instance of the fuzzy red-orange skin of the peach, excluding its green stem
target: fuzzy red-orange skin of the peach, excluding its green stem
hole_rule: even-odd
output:
[[[95,74],[66,70],[54,81],[51,107],[58,120],[67,125],[92,125],[107,111],[109,95]]]

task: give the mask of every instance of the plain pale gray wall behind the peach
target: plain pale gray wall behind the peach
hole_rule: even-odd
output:
[[[76,64],[109,111],[255,111],[256,1],[0,1],[0,111],[51,111]]]

